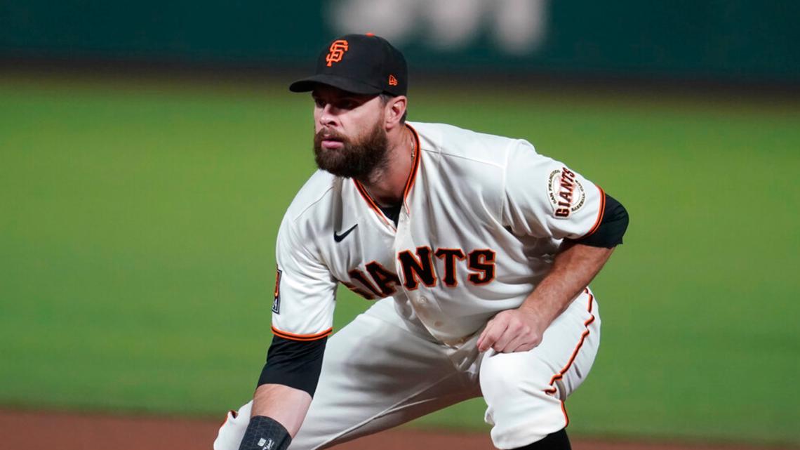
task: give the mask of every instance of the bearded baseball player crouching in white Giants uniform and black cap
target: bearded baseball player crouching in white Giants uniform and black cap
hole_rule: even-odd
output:
[[[406,123],[407,86],[373,34],[291,84],[314,98],[320,170],[278,231],[254,399],[215,449],[328,448],[476,396],[497,448],[570,448],[564,401],[600,339],[588,285],[625,208],[524,140]],[[374,304],[333,335],[338,283]]]

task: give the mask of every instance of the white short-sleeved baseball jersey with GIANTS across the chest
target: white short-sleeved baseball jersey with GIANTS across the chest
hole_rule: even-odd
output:
[[[402,318],[458,347],[530,295],[562,239],[602,220],[603,191],[524,140],[409,127],[417,151],[396,226],[353,179],[317,171],[298,192],[278,232],[276,335],[329,335],[343,283],[394,297]]]

